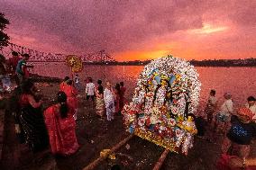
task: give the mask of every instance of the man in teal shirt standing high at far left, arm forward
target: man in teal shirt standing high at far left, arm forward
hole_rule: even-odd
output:
[[[29,78],[29,71],[27,67],[27,60],[29,60],[30,56],[28,54],[23,54],[23,58],[19,60],[17,67],[16,67],[16,75],[19,78],[20,84],[23,83],[24,80]]]

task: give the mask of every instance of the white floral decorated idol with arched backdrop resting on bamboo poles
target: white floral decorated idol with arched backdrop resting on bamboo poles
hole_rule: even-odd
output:
[[[138,78],[133,102],[123,107],[127,130],[187,155],[197,133],[193,113],[200,85],[196,69],[183,59],[168,56],[151,61]]]

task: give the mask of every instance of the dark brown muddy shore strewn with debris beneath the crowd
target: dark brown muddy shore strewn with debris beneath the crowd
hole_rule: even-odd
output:
[[[60,80],[58,78],[44,78],[35,77],[34,80],[36,80],[36,85],[41,94],[44,95],[44,98],[48,99],[45,103],[46,107],[52,102],[55,94],[57,94]],[[127,96],[131,96],[131,94],[127,94]],[[79,94],[77,121],[77,136],[80,148],[76,154],[70,157],[53,157],[50,154],[50,148],[45,152],[32,154],[24,144],[19,144],[16,139],[13,115],[8,111],[2,110],[1,114],[5,113],[5,130],[0,169],[83,169],[99,157],[101,150],[112,148],[114,144],[129,136],[129,133],[124,130],[122,115],[115,115],[113,122],[101,121],[96,116],[94,107],[94,103],[85,100],[85,93],[82,90]],[[216,137],[215,143],[196,137],[194,148],[188,152],[187,157],[170,153],[161,169],[215,170],[216,159],[221,154],[221,141],[222,138],[219,136]],[[128,141],[128,144],[130,148],[120,148],[115,153],[116,158],[114,160],[106,159],[96,169],[107,170],[114,164],[118,164],[123,170],[152,169],[164,150],[138,137],[133,137],[133,139]],[[253,155],[252,153],[256,154],[255,144],[251,150],[251,155]]]

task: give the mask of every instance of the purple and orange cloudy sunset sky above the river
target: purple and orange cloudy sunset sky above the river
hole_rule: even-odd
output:
[[[256,0],[0,0],[0,6],[11,42],[42,52],[256,58]]]

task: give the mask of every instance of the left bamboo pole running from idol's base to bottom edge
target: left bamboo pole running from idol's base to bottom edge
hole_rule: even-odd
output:
[[[110,149],[110,151],[107,155],[105,155],[104,157],[98,157],[94,162],[90,163],[88,166],[83,168],[83,170],[92,170],[92,169],[96,168],[96,166],[98,166],[100,162],[105,160],[106,157],[108,157],[110,154],[114,153],[114,151],[116,151],[118,148],[121,148],[129,139],[132,139],[133,136],[134,135],[131,134],[129,137],[127,137],[127,138],[123,139],[122,141],[120,141],[119,143],[117,143],[113,148]]]

